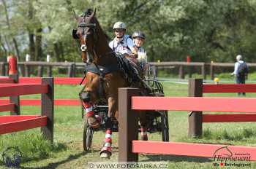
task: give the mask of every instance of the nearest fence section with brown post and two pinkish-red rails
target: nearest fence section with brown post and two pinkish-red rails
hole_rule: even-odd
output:
[[[138,141],[138,110],[184,110],[187,111],[212,111],[213,101],[223,102],[218,111],[229,111],[229,106],[240,100],[245,105],[252,107],[251,101],[254,98],[171,98],[171,97],[138,97],[139,89],[119,88],[118,90],[118,112],[119,112],[119,139],[118,140],[118,161],[133,162],[138,161],[138,153],[150,154],[175,154],[193,157],[214,157],[214,154],[221,148],[227,148],[236,154],[249,154],[249,160],[256,160],[256,147],[249,146],[227,146],[216,144],[191,144],[160,141]],[[193,103],[188,103],[193,102]],[[203,103],[199,101],[203,101]],[[154,103],[154,105],[152,105]],[[206,105],[203,105],[206,103]],[[225,106],[226,104],[226,106]],[[189,108],[188,108],[189,106]],[[253,108],[255,109],[255,108]],[[235,109],[232,109],[236,111]],[[240,109],[242,112],[248,111],[246,107]],[[226,157],[226,156],[223,156]]]

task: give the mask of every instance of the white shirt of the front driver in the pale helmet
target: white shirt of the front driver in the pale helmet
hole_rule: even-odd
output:
[[[120,52],[121,54],[128,55],[132,54],[132,51],[130,49],[135,46],[129,35],[124,35],[121,41],[118,41],[118,39],[115,38],[108,45],[114,52]]]

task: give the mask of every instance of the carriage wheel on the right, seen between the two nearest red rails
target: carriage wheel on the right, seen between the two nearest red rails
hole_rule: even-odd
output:
[[[162,127],[162,141],[169,141],[169,123],[167,111],[160,111],[161,113],[161,127]]]

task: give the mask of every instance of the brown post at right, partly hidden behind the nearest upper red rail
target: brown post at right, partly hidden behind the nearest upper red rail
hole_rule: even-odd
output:
[[[203,79],[189,79],[189,96],[203,97]],[[189,112],[189,137],[202,136],[203,113],[202,111]]]

